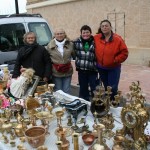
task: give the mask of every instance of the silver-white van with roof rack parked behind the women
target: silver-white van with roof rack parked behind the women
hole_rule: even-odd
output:
[[[17,51],[24,44],[23,35],[29,31],[36,33],[37,42],[43,46],[52,38],[48,23],[39,14],[0,16],[0,65],[13,69]]]

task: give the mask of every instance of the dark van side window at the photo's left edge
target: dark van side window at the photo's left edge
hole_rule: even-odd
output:
[[[25,28],[22,23],[0,25],[0,51],[14,51],[23,45]]]

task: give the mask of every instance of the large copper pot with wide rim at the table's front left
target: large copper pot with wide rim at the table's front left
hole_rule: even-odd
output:
[[[27,141],[33,148],[37,148],[44,144],[45,134],[46,129],[41,126],[33,126],[25,131]]]

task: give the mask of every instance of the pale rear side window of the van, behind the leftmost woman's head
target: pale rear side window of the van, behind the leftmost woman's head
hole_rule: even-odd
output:
[[[52,33],[46,23],[43,22],[32,22],[28,24],[29,31],[36,33],[37,42],[40,45],[47,46],[52,38]]]

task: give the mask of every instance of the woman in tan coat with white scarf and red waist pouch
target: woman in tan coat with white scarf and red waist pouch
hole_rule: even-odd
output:
[[[55,90],[69,93],[73,74],[71,65],[71,57],[74,55],[73,43],[67,38],[63,29],[56,29],[54,38],[48,44],[47,49],[52,60]]]

